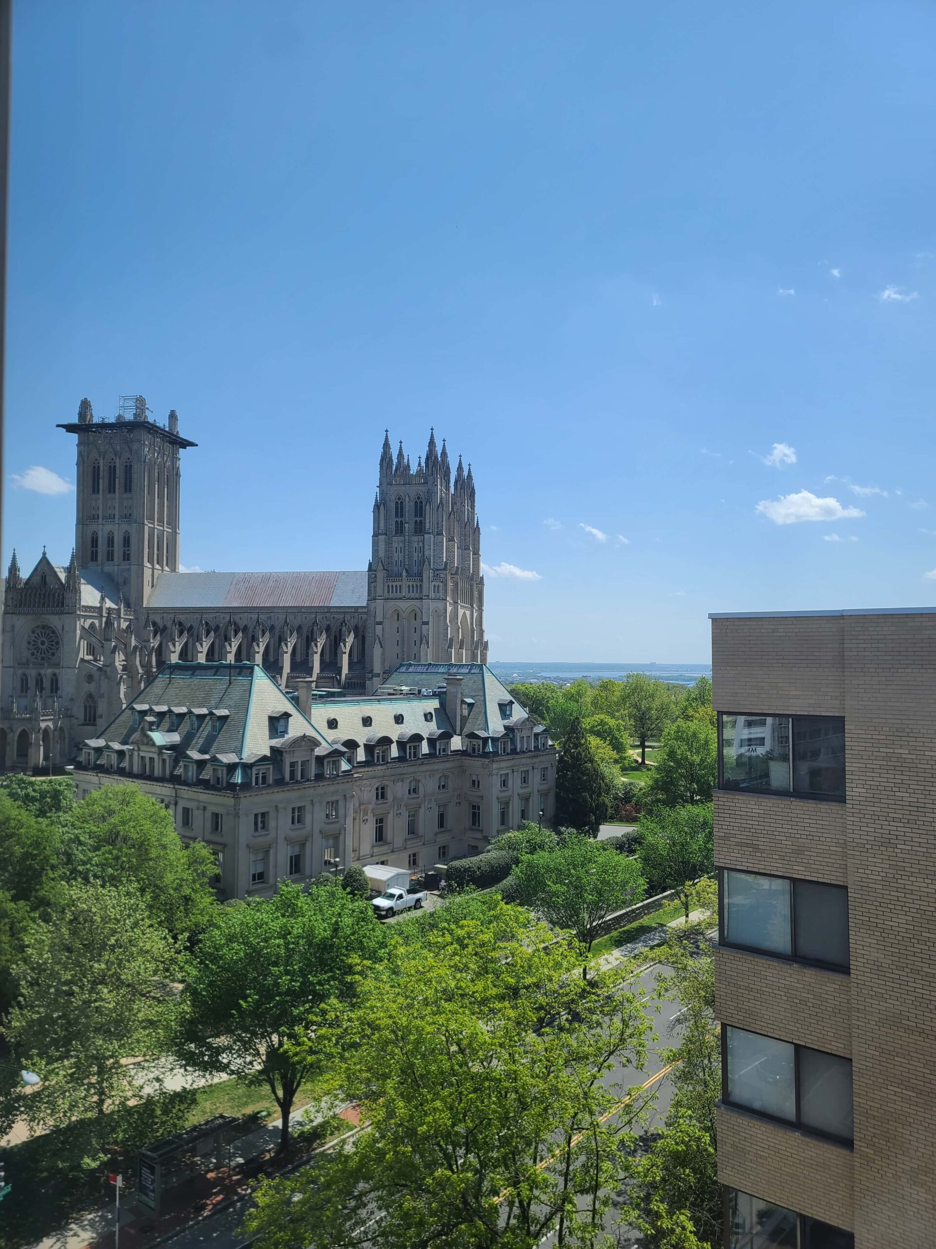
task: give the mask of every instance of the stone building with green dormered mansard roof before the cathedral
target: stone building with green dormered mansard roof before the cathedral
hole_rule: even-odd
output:
[[[80,746],[79,798],[134,782],[218,861],[223,897],[331,863],[422,872],[552,821],[557,752],[480,663],[404,663],[369,697],[290,697],[253,663],[166,664]]]

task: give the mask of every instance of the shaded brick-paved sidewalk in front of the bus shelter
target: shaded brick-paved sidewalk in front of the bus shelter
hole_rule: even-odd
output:
[[[349,1124],[357,1124],[353,1107],[341,1102],[323,1102],[295,1110],[290,1115],[290,1129],[296,1132],[310,1128],[336,1112]],[[216,1238],[221,1238],[222,1244],[232,1243],[243,1219],[243,1203],[248,1198],[251,1180],[260,1174],[262,1160],[278,1145],[281,1128],[282,1120],[276,1119],[235,1142],[231,1145],[230,1169],[195,1178],[190,1182],[191,1199],[156,1223],[149,1212],[134,1207],[135,1193],[127,1192],[126,1205],[120,1212],[121,1249],[145,1249],[154,1244],[171,1244],[173,1249],[200,1249]],[[217,1215],[212,1214],[226,1205],[227,1209]],[[114,1232],[111,1203],[45,1237],[34,1249],[111,1249]]]

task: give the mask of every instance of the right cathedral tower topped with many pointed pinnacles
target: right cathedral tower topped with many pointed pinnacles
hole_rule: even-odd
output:
[[[454,482],[444,440],[429,435],[416,470],[383,440],[367,573],[371,666],[377,688],[398,663],[485,663],[484,578],[474,480],[461,456]]]

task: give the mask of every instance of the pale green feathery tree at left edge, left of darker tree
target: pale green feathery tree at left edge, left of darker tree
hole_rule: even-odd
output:
[[[14,1113],[37,1132],[71,1125],[72,1149],[94,1167],[126,1143],[132,1103],[158,1100],[158,1064],[122,1059],[167,1052],[172,942],[136,889],[71,883],[54,917],[32,926],[14,973],[6,1037],[16,1064],[41,1077]]]

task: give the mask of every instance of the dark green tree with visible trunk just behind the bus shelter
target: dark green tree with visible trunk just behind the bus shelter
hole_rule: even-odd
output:
[[[221,908],[190,959],[180,1057],[266,1084],[288,1149],[293,1100],[319,1062],[305,1044],[310,1013],[349,1002],[383,948],[373,908],[334,883],[282,884],[273,898]]]

